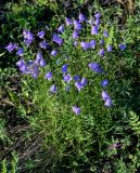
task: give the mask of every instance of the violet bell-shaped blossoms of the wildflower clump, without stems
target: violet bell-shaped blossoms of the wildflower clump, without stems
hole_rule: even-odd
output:
[[[80,35],[82,35],[82,30],[85,29],[85,26],[90,28],[90,40],[81,40]],[[104,58],[106,53],[113,52],[115,48],[113,48],[113,44],[109,43],[105,46],[105,38],[110,37],[110,34],[106,29],[103,31],[101,30],[101,13],[96,13],[94,16],[90,18],[86,18],[84,14],[79,13],[78,19],[75,18],[65,18],[65,24],[61,25],[55,29],[55,32],[51,37],[51,42],[46,40],[46,31],[40,30],[36,35],[33,35],[30,30],[25,29],[23,31],[23,38],[24,38],[24,44],[28,48],[33,42],[36,41],[36,37],[40,40],[39,42],[39,51],[36,53],[36,58],[26,62],[24,56],[24,49],[18,46],[16,43],[10,43],[5,49],[9,52],[13,52],[16,50],[16,55],[21,56],[21,59],[16,63],[18,69],[23,74],[30,75],[33,78],[37,79],[39,76],[39,72],[41,71],[41,68],[46,67],[48,65],[47,59],[43,58],[43,51],[48,51],[50,56],[56,57],[59,54],[59,50],[63,49],[63,44],[65,44],[65,39],[63,39],[63,32],[66,30],[66,28],[71,29],[71,38],[73,39],[73,46],[75,49],[81,49],[82,51],[88,50],[96,50],[96,48],[100,48],[97,55],[99,58]],[[96,36],[101,32],[101,38],[96,39]],[[93,38],[93,39],[92,39]],[[100,46],[99,46],[100,45]],[[54,48],[55,46],[55,48]],[[54,49],[52,49],[54,48]],[[119,43],[118,49],[120,51],[124,51],[126,49],[126,44]],[[81,90],[89,84],[88,79],[86,77],[78,76],[77,74],[72,76],[68,68],[71,65],[67,63],[64,63],[61,67],[61,74],[63,75],[62,81],[65,83],[74,82],[75,89],[78,92],[81,92]],[[91,70],[92,72],[99,75],[104,75],[106,71],[103,69],[102,64],[99,62],[89,62],[87,64],[87,68]],[[46,71],[44,78],[50,81],[53,79],[54,74],[49,70]],[[104,105],[106,107],[112,106],[112,98],[107,91],[105,91],[105,88],[110,84],[109,79],[104,79],[101,81],[100,85],[102,88],[102,99],[104,102]],[[51,93],[58,93],[58,85],[56,83],[53,83],[50,85],[49,91]],[[66,85],[66,91],[69,90],[69,86]],[[72,106],[72,110],[79,115],[81,112],[81,108],[79,108],[76,105]]]

